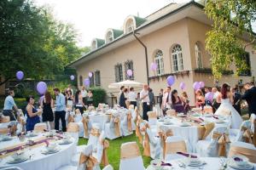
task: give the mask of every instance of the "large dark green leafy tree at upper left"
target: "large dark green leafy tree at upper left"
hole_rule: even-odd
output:
[[[48,7],[30,0],[0,1],[0,76],[5,78],[0,85],[16,71],[35,79],[62,74],[84,50],[77,37],[73,26],[55,20]]]

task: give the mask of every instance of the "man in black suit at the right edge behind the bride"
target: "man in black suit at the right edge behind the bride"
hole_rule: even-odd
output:
[[[246,89],[246,92],[241,96],[241,99],[247,101],[249,116],[251,116],[252,113],[256,113],[256,88],[250,82],[247,82],[243,88]]]

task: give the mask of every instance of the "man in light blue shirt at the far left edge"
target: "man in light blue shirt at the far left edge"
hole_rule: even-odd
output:
[[[4,100],[3,115],[9,116],[10,121],[16,121],[16,116],[13,108],[15,109],[17,115],[20,115],[20,112],[18,111],[18,107],[15,104],[15,91],[13,89],[9,89],[8,94],[9,95]]]

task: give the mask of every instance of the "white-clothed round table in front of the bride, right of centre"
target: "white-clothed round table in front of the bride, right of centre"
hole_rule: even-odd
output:
[[[202,117],[207,122],[214,122],[215,119],[212,117]],[[198,135],[198,127],[197,126],[189,126],[189,127],[182,127],[181,126],[181,120],[177,117],[172,116],[171,118],[172,124],[166,125],[164,122],[157,121],[157,130],[160,130],[160,127],[162,130],[166,131],[167,129],[172,129],[173,135],[175,136],[181,136],[183,139],[186,139],[189,144],[189,152],[196,152],[196,144],[199,138]],[[229,121],[224,120],[224,123],[215,123],[215,127],[218,126],[228,126]],[[208,135],[208,138],[211,136],[211,134]]]

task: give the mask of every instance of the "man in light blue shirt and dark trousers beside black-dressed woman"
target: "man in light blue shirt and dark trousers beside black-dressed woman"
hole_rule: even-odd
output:
[[[56,111],[55,111],[55,129],[59,130],[59,122],[61,119],[62,131],[66,132],[66,100],[63,94],[60,93],[59,88],[54,88],[56,95]]]

